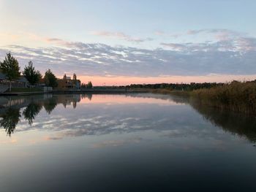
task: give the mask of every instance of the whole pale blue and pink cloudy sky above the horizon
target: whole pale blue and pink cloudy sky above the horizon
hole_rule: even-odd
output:
[[[256,78],[256,1],[0,0],[0,61],[94,85]]]

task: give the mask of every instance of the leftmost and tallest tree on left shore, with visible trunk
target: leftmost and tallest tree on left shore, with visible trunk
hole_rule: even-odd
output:
[[[17,59],[11,53],[7,53],[4,61],[0,63],[0,69],[10,81],[10,91],[12,91],[12,80],[17,80],[20,77],[20,66]]]

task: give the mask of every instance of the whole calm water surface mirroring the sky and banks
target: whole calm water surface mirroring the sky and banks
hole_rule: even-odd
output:
[[[153,94],[0,98],[0,191],[256,191],[256,119]]]

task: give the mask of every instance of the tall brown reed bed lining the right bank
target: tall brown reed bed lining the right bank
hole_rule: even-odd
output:
[[[256,115],[256,82],[233,81],[214,88],[194,91],[156,89],[151,92],[188,96],[193,102],[203,105]]]

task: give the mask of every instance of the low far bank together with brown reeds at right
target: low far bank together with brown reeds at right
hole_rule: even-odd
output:
[[[15,89],[12,89],[15,91]],[[202,88],[194,91],[172,91],[170,89],[82,89],[82,90],[53,90],[0,93],[0,96],[27,96],[34,94],[123,94],[123,93],[160,93],[176,96],[186,96],[189,101],[197,102],[235,112],[256,115],[256,82],[236,82],[219,85],[214,88]]]

